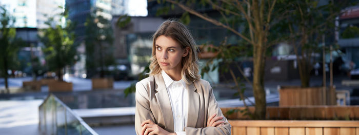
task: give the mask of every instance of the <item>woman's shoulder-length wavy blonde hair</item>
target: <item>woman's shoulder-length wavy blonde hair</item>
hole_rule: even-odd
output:
[[[167,20],[163,22],[162,25],[159,26],[158,30],[153,34],[152,57],[150,72],[148,74],[155,75],[157,73],[161,73],[162,71],[157,62],[155,46],[157,37],[161,35],[171,37],[174,41],[181,45],[182,48],[189,47],[188,55],[182,57],[181,61],[182,79],[184,79],[187,84],[200,79],[201,75],[198,73],[198,49],[196,43],[186,26],[176,20]]]

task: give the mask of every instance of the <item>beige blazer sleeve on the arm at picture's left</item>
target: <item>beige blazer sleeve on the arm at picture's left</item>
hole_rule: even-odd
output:
[[[135,92],[135,99],[136,99],[136,110],[135,110],[135,130],[136,134],[141,134],[142,126],[141,123],[145,120],[152,120],[155,122],[152,111],[150,109],[150,101],[148,90],[146,87],[141,83],[136,83],[136,92]]]

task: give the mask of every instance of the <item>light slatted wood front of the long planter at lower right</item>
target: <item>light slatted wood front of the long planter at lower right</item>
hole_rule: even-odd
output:
[[[228,120],[232,134],[349,135],[359,134],[359,121]]]

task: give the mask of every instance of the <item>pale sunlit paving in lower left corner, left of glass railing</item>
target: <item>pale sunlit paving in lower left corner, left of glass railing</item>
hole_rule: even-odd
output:
[[[38,106],[42,102],[0,101],[0,134],[39,134]]]

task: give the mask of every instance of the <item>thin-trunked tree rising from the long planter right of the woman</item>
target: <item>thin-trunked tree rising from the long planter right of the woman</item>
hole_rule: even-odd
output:
[[[158,2],[161,3],[161,1]],[[193,0],[178,2],[165,0],[165,2],[169,3],[171,7],[174,7],[172,5],[175,5],[183,9],[185,13],[183,14],[182,18],[187,18],[188,20],[189,17],[186,17],[186,14],[188,15],[189,13],[200,17],[214,25],[221,26],[233,34],[241,37],[241,40],[238,41],[238,43],[241,44],[233,45],[234,48],[237,47],[238,49],[241,49],[243,46],[252,48],[253,80],[249,83],[252,85],[255,99],[255,111],[253,118],[264,119],[266,114],[266,94],[264,91],[265,58],[268,54],[268,48],[283,40],[281,38],[281,33],[277,32],[277,28],[278,25],[280,25],[280,22],[288,15],[288,12],[286,12],[286,1]],[[193,9],[193,5],[208,5],[214,10],[217,10],[222,15],[222,19],[216,20],[215,18],[212,18],[203,12],[198,12]],[[240,28],[241,31],[238,30]],[[235,52],[238,49],[226,49],[222,50],[222,52],[233,50],[233,52],[226,52],[223,54],[236,55]],[[232,76],[232,78],[235,79],[237,78],[236,76],[238,75]],[[236,88],[238,91],[242,91],[240,83],[236,83]]]

